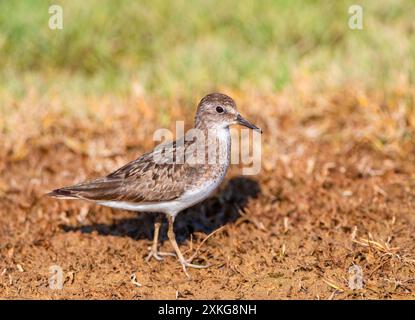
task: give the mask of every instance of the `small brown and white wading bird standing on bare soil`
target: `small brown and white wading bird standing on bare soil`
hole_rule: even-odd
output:
[[[234,124],[262,133],[241,116],[231,97],[210,93],[200,100],[194,128],[184,137],[162,143],[104,177],[55,189],[47,195],[156,214],[147,261],[176,256],[190,278],[187,268],[209,265],[193,264],[183,256],[176,242],[174,221],[178,213],[208,198],[224,180],[230,165],[230,126]],[[163,214],[167,217],[167,235],[174,253],[158,250]]]

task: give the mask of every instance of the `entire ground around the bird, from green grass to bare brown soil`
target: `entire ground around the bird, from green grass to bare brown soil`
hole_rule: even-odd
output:
[[[347,0],[57,4],[60,31],[48,0],[0,4],[1,298],[414,297],[411,1],[363,1],[361,31]],[[192,281],[145,262],[151,215],[44,197],[190,127],[211,90],[263,128],[262,170],[179,216],[186,255],[213,264]]]

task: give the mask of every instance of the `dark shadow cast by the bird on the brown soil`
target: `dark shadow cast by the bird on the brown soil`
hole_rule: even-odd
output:
[[[236,221],[240,210],[244,211],[250,198],[260,194],[259,184],[250,178],[235,177],[215,196],[179,213],[174,229],[177,241],[183,242],[195,232],[209,234],[221,226]],[[66,232],[97,232],[100,235],[152,239],[154,233],[154,213],[140,213],[135,218],[119,219],[113,224],[93,223],[82,226],[62,225]],[[163,221],[165,222],[165,221]],[[160,240],[167,239],[167,223],[161,227]]]

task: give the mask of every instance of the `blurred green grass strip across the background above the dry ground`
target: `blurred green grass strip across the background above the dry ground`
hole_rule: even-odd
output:
[[[63,7],[63,30],[48,8]],[[0,1],[0,97],[29,88],[69,94],[276,91],[294,74],[367,88],[415,82],[412,0]]]

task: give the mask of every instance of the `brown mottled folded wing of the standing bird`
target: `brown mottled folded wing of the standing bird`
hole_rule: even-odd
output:
[[[57,189],[52,196],[94,201],[157,202],[173,200],[183,194],[185,177],[197,174],[198,168],[176,163],[178,152],[189,143],[162,145],[151,153],[126,164],[106,177]]]

